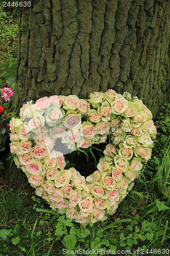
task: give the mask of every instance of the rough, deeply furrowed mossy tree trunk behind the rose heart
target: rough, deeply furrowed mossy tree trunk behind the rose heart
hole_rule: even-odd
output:
[[[19,10],[15,109],[42,91],[109,88],[156,117],[170,94],[169,36],[169,0],[33,0]]]

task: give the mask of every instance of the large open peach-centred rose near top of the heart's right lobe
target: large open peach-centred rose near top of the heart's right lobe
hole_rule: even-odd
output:
[[[120,94],[116,95],[114,101],[111,103],[113,114],[122,114],[128,108],[128,101]]]

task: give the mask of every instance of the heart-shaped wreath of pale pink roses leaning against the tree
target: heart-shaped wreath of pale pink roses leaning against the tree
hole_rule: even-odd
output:
[[[152,113],[137,97],[114,90],[90,94],[89,100],[76,95],[50,96],[31,101],[12,118],[11,153],[27,175],[36,195],[53,209],[81,224],[104,221],[133,187],[142,162],[151,157],[155,138]],[[105,142],[97,170],[84,176],[64,169],[63,152],[55,150],[57,139],[69,151]]]

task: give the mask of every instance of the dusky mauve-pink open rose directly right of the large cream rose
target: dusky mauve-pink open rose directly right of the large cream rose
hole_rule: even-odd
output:
[[[79,129],[81,126],[81,115],[69,114],[65,116],[64,126],[67,129]]]

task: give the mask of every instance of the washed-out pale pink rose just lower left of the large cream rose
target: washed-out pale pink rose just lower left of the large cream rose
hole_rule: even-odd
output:
[[[30,131],[34,133],[40,133],[42,127],[44,126],[44,117],[40,114],[34,115],[34,117],[28,122],[28,127]]]

